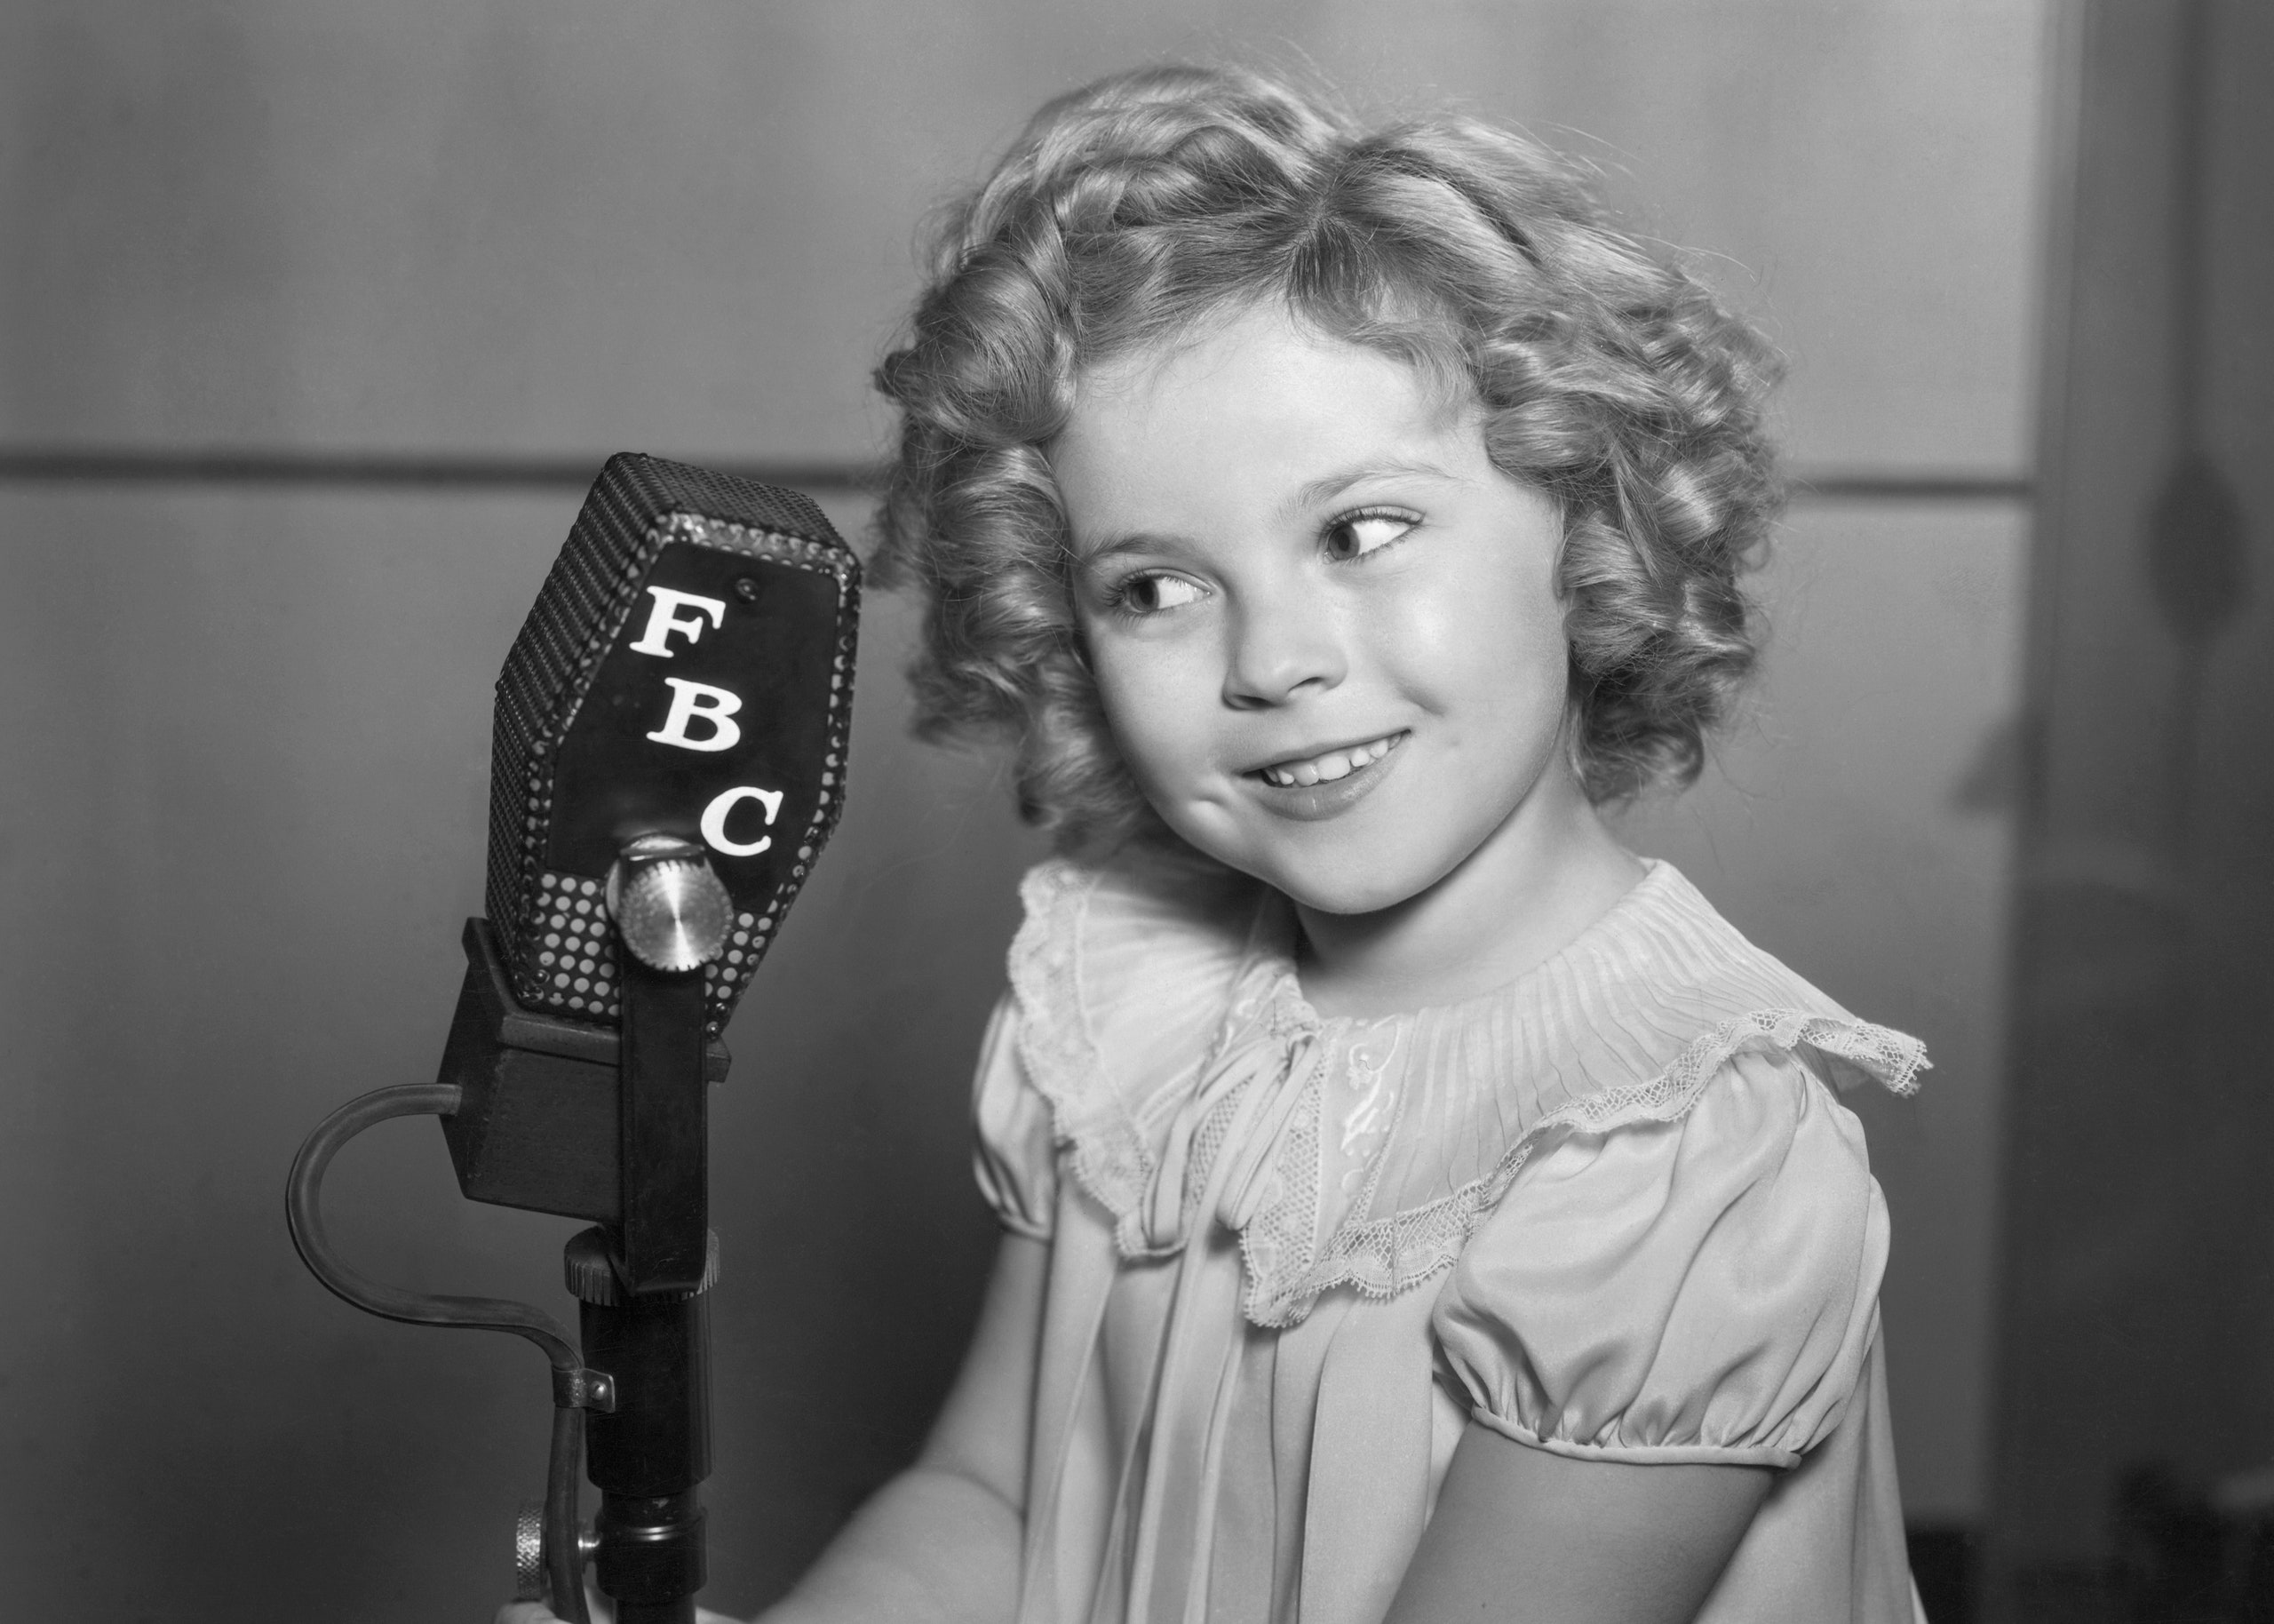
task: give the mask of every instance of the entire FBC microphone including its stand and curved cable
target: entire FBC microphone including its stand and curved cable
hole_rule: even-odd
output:
[[[553,1469],[523,1597],[691,1624],[709,1476],[707,1085],[721,1033],[844,807],[860,562],[812,500],[609,457],[498,676],[487,919],[432,1087],[334,1112],[289,1185],[309,1269],[357,1308],[509,1331],[553,1360]],[[580,1217],[580,1342],[537,1308],[396,1292],[323,1237],[332,1153],[439,1115],[473,1201]],[[600,1488],[575,1526],[578,1433]]]

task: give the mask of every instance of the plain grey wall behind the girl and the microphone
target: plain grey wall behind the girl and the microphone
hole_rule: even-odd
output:
[[[0,14],[0,444],[866,459],[916,218],[1046,93],[1162,55],[1451,98],[1605,168],[1792,355],[1756,710],[1628,823],[1858,1012],[1915,1517],[1985,1501],[2042,5],[118,5]],[[1967,475],[1974,498],[1903,496]],[[821,491],[839,523],[860,498]],[[432,1076],[480,905],[489,682],[575,491],[5,484],[0,1558],[86,1619],[487,1617],[541,1485],[503,1337],[325,1296],[314,1121]],[[991,1226],[964,1083],[1012,883],[994,767],[903,739],[871,596],[848,814],[714,1096],[707,1601],[905,1458]],[[366,1269],[566,1312],[566,1221],[348,1151]]]

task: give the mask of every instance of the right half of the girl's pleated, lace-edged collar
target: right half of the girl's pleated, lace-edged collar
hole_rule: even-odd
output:
[[[1851,1144],[1824,1171],[1860,1192],[1860,1126],[1835,1094],[1908,1094],[1926,1069],[1915,1037],[1849,1014],[1667,862],[1519,980],[1353,1039],[1394,1089],[1392,1126],[1367,1151],[1369,1196],[1289,1301],[1342,1283],[1392,1294],[1449,1269],[1519,1185],[1560,1178],[1560,1146],[1662,1167],[1744,1160],[1821,1117],[1833,1135],[1803,1135],[1803,1151]],[[1585,1210],[1610,1183],[1569,1194]]]

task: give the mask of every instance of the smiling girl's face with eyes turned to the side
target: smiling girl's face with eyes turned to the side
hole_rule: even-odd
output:
[[[1258,309],[1085,373],[1051,466],[1114,741],[1189,844],[1364,914],[1583,803],[1560,516],[1410,366]]]

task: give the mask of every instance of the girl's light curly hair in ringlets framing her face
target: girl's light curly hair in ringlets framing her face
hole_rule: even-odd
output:
[[[1464,391],[1492,462],[1560,505],[1587,796],[1696,778],[1756,660],[1774,353],[1524,136],[1364,130],[1185,66],[1048,102],[946,218],[875,371],[901,412],[878,569],[928,598],[919,735],[1014,739],[1021,812],[1062,846],[1153,823],[1082,662],[1046,448],[1085,366],[1271,303]]]

